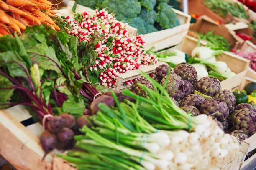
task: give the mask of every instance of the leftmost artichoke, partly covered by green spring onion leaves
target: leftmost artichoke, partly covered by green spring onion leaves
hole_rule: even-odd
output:
[[[138,86],[138,83],[146,85],[148,88],[154,90],[153,85],[151,84],[151,82],[149,82],[148,80],[146,80],[146,78],[141,78],[137,81],[135,81],[133,83],[133,85],[131,86],[131,91],[136,93],[139,96],[142,97],[148,97],[148,93],[145,90],[142,90],[141,87]]]

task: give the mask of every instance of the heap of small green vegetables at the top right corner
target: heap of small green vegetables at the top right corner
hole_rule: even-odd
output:
[[[222,18],[225,18],[227,14],[238,18],[249,18],[243,5],[239,5],[238,3],[225,0],[205,0],[204,4]]]

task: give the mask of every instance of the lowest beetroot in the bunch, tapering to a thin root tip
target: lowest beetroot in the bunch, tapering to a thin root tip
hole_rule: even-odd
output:
[[[40,143],[43,150],[45,151],[44,157],[56,148],[58,139],[54,133],[49,132],[48,130],[44,131],[40,136]],[[44,158],[43,158],[44,159]]]

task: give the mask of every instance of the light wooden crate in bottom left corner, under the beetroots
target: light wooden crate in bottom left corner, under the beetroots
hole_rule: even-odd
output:
[[[52,162],[58,150],[46,155],[42,150],[39,136],[44,131],[40,123],[24,126],[21,122],[31,119],[23,105],[17,105],[0,110],[0,157],[17,170],[52,170]],[[55,170],[66,170],[69,167],[64,161],[59,161]]]

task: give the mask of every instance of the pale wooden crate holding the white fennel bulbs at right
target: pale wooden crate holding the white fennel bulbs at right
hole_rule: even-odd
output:
[[[200,41],[200,45],[206,45],[205,41]],[[192,50],[197,46],[197,39],[194,37],[186,36],[183,38],[182,42],[179,44],[179,50],[191,55]],[[246,75],[250,60],[243,57],[239,57],[231,52],[223,52],[219,55],[217,60],[224,61],[227,63],[228,67],[236,73],[235,77],[228,78],[220,82],[222,89],[232,90],[239,87],[243,77]]]

